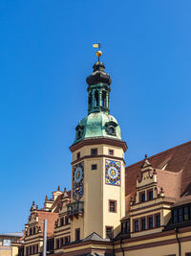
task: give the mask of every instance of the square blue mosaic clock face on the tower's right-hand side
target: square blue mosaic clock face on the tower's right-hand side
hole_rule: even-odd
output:
[[[105,162],[105,183],[120,186],[120,162],[106,160]]]

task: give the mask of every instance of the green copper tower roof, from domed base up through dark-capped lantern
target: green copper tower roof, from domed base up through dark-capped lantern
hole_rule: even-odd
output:
[[[82,119],[75,128],[74,144],[91,138],[121,140],[117,120],[110,115],[112,80],[105,72],[103,62],[96,61],[93,69],[93,73],[86,80],[88,83],[88,116]]]

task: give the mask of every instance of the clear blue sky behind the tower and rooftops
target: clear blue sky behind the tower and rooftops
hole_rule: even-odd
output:
[[[190,0],[0,1],[0,232],[70,189],[97,40],[127,164],[190,140],[190,11]]]

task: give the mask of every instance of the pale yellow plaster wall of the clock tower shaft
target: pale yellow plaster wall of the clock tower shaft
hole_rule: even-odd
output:
[[[80,151],[80,157],[90,156],[91,149],[97,149],[97,154],[109,154],[109,150],[114,150],[114,160],[116,157],[124,157],[124,151],[119,147],[109,145],[85,146],[73,152],[73,161],[76,154]],[[105,238],[105,226],[114,226],[115,235],[120,229],[120,219],[125,216],[125,167],[121,163],[121,185],[105,184],[105,159],[107,157],[85,158],[84,162],[84,196],[80,199],[84,201],[84,221],[72,221],[72,241],[74,241],[74,229],[83,226],[81,238],[86,238],[93,232]],[[111,159],[112,160],[112,159]],[[117,160],[118,161],[118,160]],[[77,161],[78,162],[78,161]],[[80,162],[80,160],[79,160]],[[92,164],[97,165],[97,170],[92,171]],[[109,212],[109,199],[117,200],[117,213]],[[72,199],[74,201],[74,199]],[[73,223],[74,222],[74,223]]]

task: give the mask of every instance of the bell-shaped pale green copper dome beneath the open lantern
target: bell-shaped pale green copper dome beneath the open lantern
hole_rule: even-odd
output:
[[[121,140],[117,119],[104,112],[91,113],[82,119],[76,129],[74,144],[90,138],[113,138]]]

